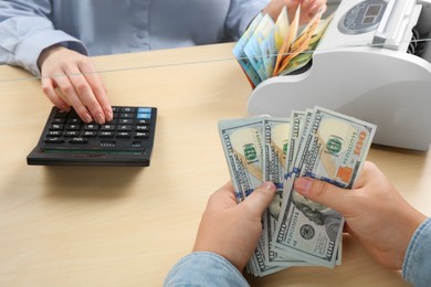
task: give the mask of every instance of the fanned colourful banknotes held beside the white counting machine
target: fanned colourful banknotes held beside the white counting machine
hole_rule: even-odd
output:
[[[269,14],[257,14],[233,49],[251,85],[269,77],[290,74],[305,66],[324,35],[332,17],[322,20],[323,10],[299,28],[301,6],[290,21],[284,8],[276,22]]]

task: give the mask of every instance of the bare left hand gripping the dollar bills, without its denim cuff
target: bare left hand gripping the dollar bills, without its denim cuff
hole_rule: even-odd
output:
[[[262,213],[274,193],[274,184],[264,182],[236,204],[232,183],[224,184],[208,201],[193,252],[219,254],[242,272],[254,253],[262,233]]]

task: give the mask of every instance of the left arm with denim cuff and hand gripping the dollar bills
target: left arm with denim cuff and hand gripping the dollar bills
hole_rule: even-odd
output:
[[[192,254],[177,263],[165,285],[246,286],[240,272],[257,245],[261,217],[274,194],[275,185],[265,182],[236,204],[231,183],[216,191],[203,212]]]

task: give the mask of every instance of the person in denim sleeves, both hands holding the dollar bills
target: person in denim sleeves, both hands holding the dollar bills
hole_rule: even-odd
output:
[[[311,178],[297,179],[295,189],[341,213],[345,230],[379,264],[402,269],[414,286],[430,285],[431,217],[411,206],[376,164],[365,163],[353,190]],[[261,216],[274,194],[275,185],[264,182],[236,204],[231,183],[216,191],[192,253],[172,267],[165,286],[248,286],[241,273],[257,245]]]

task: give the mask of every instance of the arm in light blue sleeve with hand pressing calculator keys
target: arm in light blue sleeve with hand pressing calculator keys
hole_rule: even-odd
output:
[[[0,63],[42,75],[42,88],[59,108],[72,105],[80,117],[112,119],[105,87],[81,41],[55,30],[49,0],[0,1]],[[65,76],[76,74],[75,76]],[[60,88],[59,92],[56,88]]]

